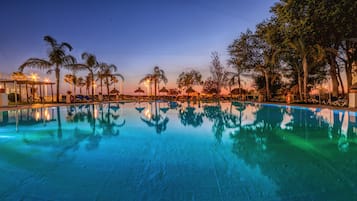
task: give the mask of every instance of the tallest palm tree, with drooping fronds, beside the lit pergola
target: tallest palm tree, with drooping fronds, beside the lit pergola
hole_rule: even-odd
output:
[[[55,71],[57,92],[56,100],[58,103],[60,89],[60,68],[64,65],[75,63],[76,59],[73,56],[67,54],[67,50],[72,50],[72,46],[69,43],[57,43],[57,41],[51,36],[45,36],[44,40],[50,45],[50,50],[48,51],[48,60],[29,58],[19,67],[19,70],[23,71],[25,67],[31,67],[47,70],[48,73],[51,73],[52,70]],[[52,69],[53,67],[54,69]]]

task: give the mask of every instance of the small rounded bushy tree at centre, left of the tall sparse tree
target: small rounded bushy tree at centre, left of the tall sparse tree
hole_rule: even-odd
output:
[[[188,89],[193,85],[202,84],[202,75],[196,70],[182,72],[177,78],[177,85],[180,89]]]

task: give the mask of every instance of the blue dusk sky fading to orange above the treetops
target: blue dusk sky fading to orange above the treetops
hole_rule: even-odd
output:
[[[274,2],[2,1],[0,72],[11,73],[30,57],[46,58],[43,36],[51,35],[70,43],[71,54],[78,59],[82,52],[90,52],[100,61],[117,65],[127,80],[127,93],[155,65],[166,71],[172,87],[186,69],[198,69],[207,77],[213,51],[226,63],[227,46],[268,18]]]

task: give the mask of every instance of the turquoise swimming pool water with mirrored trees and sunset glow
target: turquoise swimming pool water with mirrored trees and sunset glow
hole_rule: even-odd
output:
[[[0,112],[0,200],[357,200],[357,114],[253,103]]]

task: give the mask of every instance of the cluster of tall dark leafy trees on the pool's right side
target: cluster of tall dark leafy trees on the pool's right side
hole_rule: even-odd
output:
[[[254,75],[268,100],[282,78],[288,80],[282,82],[286,89],[297,89],[291,92],[305,102],[311,87],[326,80],[334,97],[344,96],[356,73],[356,10],[353,0],[281,0],[271,7],[269,19],[229,46],[230,63],[238,74]]]

